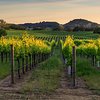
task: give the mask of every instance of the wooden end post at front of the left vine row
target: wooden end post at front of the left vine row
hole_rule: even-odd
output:
[[[14,84],[14,46],[11,45],[11,84]]]

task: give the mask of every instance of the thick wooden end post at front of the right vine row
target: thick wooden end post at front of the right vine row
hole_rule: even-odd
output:
[[[76,47],[72,48],[72,86],[76,86]]]

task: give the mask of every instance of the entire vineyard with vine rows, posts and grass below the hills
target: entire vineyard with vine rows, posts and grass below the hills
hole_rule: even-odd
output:
[[[90,89],[100,94],[99,35],[65,32],[61,35],[48,32],[47,35],[41,31],[36,34],[8,33],[8,36],[0,38],[0,81],[10,76],[10,85],[17,84],[16,80],[25,79],[24,76],[32,72],[29,85],[22,87],[24,92],[32,92],[33,87],[37,89],[40,86],[39,91],[54,91],[65,70],[71,79],[71,87],[77,87],[77,78],[81,77]],[[38,79],[36,84],[33,82],[35,78]]]

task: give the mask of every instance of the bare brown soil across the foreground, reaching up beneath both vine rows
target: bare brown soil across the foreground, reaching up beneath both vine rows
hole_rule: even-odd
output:
[[[0,100],[100,100],[100,96],[90,91],[80,78],[76,79],[76,87],[72,87],[70,78],[66,76],[66,71],[55,92],[21,94],[19,90],[31,74],[32,72],[28,72],[23,78],[17,79],[16,84],[13,85],[10,84],[10,76],[2,80],[0,82]]]

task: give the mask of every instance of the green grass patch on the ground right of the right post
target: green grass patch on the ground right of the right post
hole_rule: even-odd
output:
[[[86,58],[77,58],[77,76],[85,80],[89,89],[100,94],[100,70],[93,67]]]

